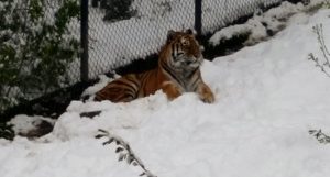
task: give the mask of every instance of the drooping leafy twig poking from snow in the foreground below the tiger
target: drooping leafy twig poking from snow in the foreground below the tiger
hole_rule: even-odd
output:
[[[156,177],[153,175],[150,170],[147,170],[142,163],[142,161],[133,153],[132,148],[130,147],[129,143],[123,141],[121,137],[110,134],[106,130],[99,129],[99,134],[95,136],[96,139],[101,139],[101,137],[108,137],[108,141],[103,142],[103,145],[111,144],[116,142],[117,148],[116,153],[119,153],[119,158],[118,161],[123,161],[125,159],[128,164],[132,164],[134,166],[140,166],[143,170],[140,176],[146,176],[146,177]]]

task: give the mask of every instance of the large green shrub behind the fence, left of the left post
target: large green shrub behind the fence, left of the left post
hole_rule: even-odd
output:
[[[78,0],[0,0],[0,113],[68,84],[78,15]]]

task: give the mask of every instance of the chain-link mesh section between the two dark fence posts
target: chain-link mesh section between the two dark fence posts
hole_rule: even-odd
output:
[[[109,11],[121,3],[112,5]],[[124,14],[105,20],[107,9],[102,7],[90,9],[91,78],[129,64],[132,59],[157,53],[167,30],[194,26],[194,1],[135,0],[129,5],[134,16],[127,20],[118,20]]]

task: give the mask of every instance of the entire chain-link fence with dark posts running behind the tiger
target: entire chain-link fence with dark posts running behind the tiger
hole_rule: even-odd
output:
[[[242,16],[280,2],[282,0],[0,0],[0,14],[4,16],[0,19],[0,112],[22,100],[32,100],[81,79],[95,79],[98,75],[133,60],[157,54],[168,30],[197,27],[201,35],[212,34]],[[85,3],[88,5],[88,13],[82,8]],[[84,13],[88,14],[88,19],[84,20]],[[84,29],[81,22],[88,24],[88,29],[85,29],[88,32],[80,31]],[[57,25],[63,25],[62,30]],[[21,35],[23,40],[19,40]],[[80,36],[85,38],[81,40],[82,43],[88,41],[86,45],[80,44]],[[82,60],[79,59],[81,49],[77,44],[85,52],[80,55],[85,57]],[[31,45],[35,47],[29,47]],[[11,53],[3,46],[11,46],[15,51],[13,58],[21,56],[23,60],[8,62]],[[80,64],[85,66],[82,69]],[[14,78],[7,76],[12,71],[8,68],[16,71]],[[38,71],[34,74],[35,68]],[[85,73],[84,77],[81,71]],[[30,74],[33,77],[25,77]],[[41,85],[43,87],[37,87]]]

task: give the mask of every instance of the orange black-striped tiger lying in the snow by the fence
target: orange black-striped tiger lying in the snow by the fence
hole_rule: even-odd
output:
[[[169,30],[154,69],[114,79],[96,93],[95,101],[130,102],[163,90],[168,100],[196,92],[201,101],[212,103],[215,95],[201,78],[202,60],[201,46],[193,30]]]

